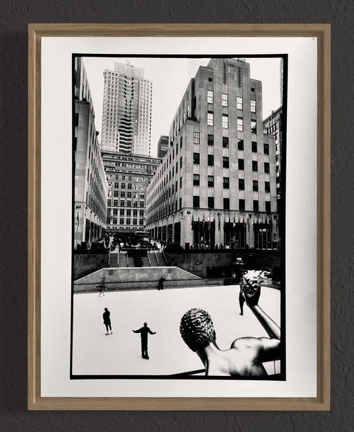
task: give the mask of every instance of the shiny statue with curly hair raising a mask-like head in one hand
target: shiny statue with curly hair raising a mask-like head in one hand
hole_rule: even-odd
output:
[[[205,375],[264,377],[264,361],[279,359],[280,328],[258,305],[261,294],[261,271],[243,275],[245,301],[254,316],[268,333],[265,337],[242,337],[232,342],[230,350],[220,350],[211,316],[203,309],[190,309],[180,321],[180,335],[188,347],[196,352],[205,366]]]

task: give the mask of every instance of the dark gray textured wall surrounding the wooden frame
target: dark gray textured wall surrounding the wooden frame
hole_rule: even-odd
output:
[[[2,0],[0,20],[1,431],[353,430],[354,242],[352,218],[348,217],[354,202],[353,1]],[[28,22],[332,24],[333,390],[330,412],[26,411]]]

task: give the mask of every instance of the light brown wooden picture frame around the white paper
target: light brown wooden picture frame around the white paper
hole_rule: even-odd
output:
[[[29,24],[28,26],[28,409],[151,411],[327,411],[330,409],[330,25]],[[73,397],[41,392],[41,201],[43,38],[313,38],[317,41],[317,395],[314,397]],[[68,126],[71,130],[71,125]],[[288,180],[287,180],[288,181]],[[60,263],[59,263],[60,264]],[[69,269],[71,271],[71,269]],[[306,275],[302,275],[306,278]],[[195,381],[198,382],[198,381]]]

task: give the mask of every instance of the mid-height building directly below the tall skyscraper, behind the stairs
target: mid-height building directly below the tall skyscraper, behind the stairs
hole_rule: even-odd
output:
[[[146,190],[161,159],[102,151],[108,181],[107,231],[145,231]]]

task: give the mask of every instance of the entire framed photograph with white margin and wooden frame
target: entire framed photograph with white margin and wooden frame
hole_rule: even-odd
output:
[[[30,24],[28,409],[329,409],[329,59],[326,24]]]

